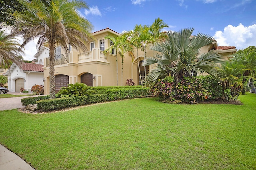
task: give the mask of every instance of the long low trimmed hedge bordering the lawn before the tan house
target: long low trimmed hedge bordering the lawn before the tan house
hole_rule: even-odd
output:
[[[69,98],[55,98],[49,99],[49,96],[39,96],[34,98],[22,99],[22,105],[27,106],[28,104],[38,104],[38,109],[43,111],[50,111],[56,109],[63,109],[67,107],[82,106],[86,104],[94,104],[100,102],[122,100],[130,98],[138,98],[149,95],[149,88],[141,88],[140,86],[121,86],[114,87],[100,87],[98,92],[104,91],[105,94],[92,94],[88,96],[78,96]]]

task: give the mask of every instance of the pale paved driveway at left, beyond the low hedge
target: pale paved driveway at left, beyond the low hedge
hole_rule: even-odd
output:
[[[9,92],[7,94],[21,95],[19,92]],[[37,97],[44,95],[36,95],[36,96],[22,96],[22,97],[14,97],[14,98],[0,98],[0,110],[10,110],[10,109],[18,109],[23,108],[20,99],[28,98],[28,97]]]

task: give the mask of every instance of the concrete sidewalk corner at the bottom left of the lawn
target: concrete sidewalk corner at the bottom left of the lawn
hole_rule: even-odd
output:
[[[34,170],[15,153],[0,145],[0,170]]]

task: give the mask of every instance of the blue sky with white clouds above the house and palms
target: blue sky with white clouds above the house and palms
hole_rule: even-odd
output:
[[[219,46],[244,49],[256,46],[256,0],[86,0],[80,14],[94,31],[109,27],[118,33],[136,24],[150,25],[160,18],[166,30],[194,27],[214,37]],[[32,45],[32,43],[31,43]],[[28,51],[28,52],[27,52]],[[34,50],[33,50],[34,51]],[[24,59],[32,59],[31,46]],[[28,55],[28,53],[31,53]],[[36,50],[34,52],[36,54]],[[32,55],[32,56],[31,56]]]

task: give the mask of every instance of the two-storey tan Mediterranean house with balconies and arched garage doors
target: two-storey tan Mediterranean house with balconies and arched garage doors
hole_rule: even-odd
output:
[[[65,53],[61,47],[55,48],[55,89],[56,92],[62,86],[82,82],[88,86],[116,86],[116,54],[115,51],[104,55],[103,51],[111,45],[109,39],[104,39],[106,35],[119,36],[120,33],[109,29],[102,29],[92,33],[94,41],[88,44],[88,51],[80,53],[69,47],[69,52]],[[229,55],[236,52],[235,47],[218,47],[217,42],[211,43],[202,47],[201,53],[207,53],[210,50],[217,50],[221,53],[224,59],[228,59]],[[134,53],[136,51],[134,50]],[[154,51],[148,48],[147,56],[153,56]],[[44,93],[50,92],[50,79],[49,79],[49,55],[44,58],[41,64],[44,65]],[[138,64],[140,65],[140,72],[144,77],[144,66],[142,62],[144,53],[138,51],[135,55],[136,59],[132,60],[128,55],[124,57],[123,76],[121,75],[121,57],[118,55],[118,86],[125,86],[126,80],[132,78],[136,85],[141,84],[139,79]],[[38,59],[36,59],[40,63]],[[147,66],[150,70],[152,66]],[[122,81],[123,80],[123,81]]]

